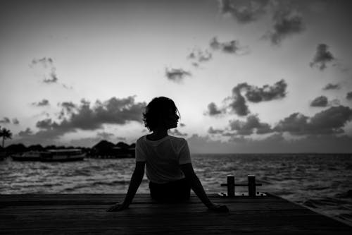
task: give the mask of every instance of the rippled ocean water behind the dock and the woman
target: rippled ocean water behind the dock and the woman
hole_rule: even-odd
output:
[[[226,192],[220,183],[256,175],[274,193],[352,225],[352,155],[260,154],[192,155],[194,170],[207,193]],[[126,193],[134,159],[80,162],[0,162],[0,193]],[[236,191],[246,191],[237,188]],[[137,193],[149,193],[144,176]]]

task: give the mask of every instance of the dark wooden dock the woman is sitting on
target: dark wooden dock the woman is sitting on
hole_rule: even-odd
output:
[[[229,213],[210,212],[195,196],[166,204],[137,194],[121,212],[121,194],[0,195],[0,234],[352,234],[352,227],[275,195],[221,198]]]

